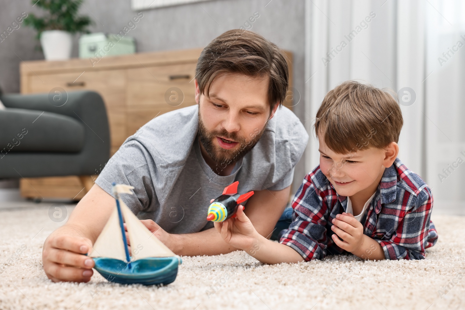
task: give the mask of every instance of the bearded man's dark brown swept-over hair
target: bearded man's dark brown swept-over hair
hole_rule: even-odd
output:
[[[204,48],[195,69],[200,93],[209,96],[213,80],[227,73],[268,78],[271,110],[277,103],[281,106],[286,98],[289,84],[286,54],[257,33],[228,30]]]

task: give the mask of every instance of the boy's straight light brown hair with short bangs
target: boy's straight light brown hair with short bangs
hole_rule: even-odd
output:
[[[333,152],[348,154],[397,143],[402,125],[399,104],[388,90],[346,81],[326,94],[314,129]]]

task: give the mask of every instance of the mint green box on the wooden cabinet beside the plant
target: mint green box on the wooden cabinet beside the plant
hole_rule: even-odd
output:
[[[136,43],[134,38],[126,35],[89,33],[83,34],[79,38],[79,58],[102,58],[135,52]]]

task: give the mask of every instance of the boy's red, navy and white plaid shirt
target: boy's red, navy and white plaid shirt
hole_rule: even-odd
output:
[[[430,221],[433,197],[422,178],[399,158],[386,168],[365,212],[364,234],[376,240],[386,259],[423,259],[438,234]],[[347,210],[319,165],[306,175],[292,200],[292,223],[280,239],[307,261],[345,252],[332,241],[332,219]]]

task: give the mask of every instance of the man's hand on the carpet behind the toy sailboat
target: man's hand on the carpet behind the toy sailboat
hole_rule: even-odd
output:
[[[44,271],[53,282],[88,282],[93,275],[93,259],[86,254],[92,248],[88,238],[51,235],[42,251]]]

